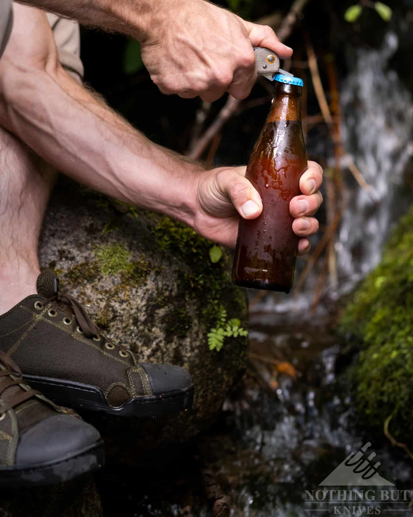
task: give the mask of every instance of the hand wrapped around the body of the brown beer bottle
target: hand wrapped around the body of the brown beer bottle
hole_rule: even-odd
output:
[[[245,167],[236,167],[213,169],[199,176],[196,187],[199,209],[194,222],[198,233],[233,248],[239,215],[245,219],[255,219],[261,214],[260,194],[244,175]],[[300,179],[303,194],[293,197],[290,202],[290,212],[295,218],[293,231],[301,236],[298,244],[300,255],[310,249],[307,237],[319,229],[319,222],[309,216],[315,214],[323,201],[318,190],[322,181],[321,166],[308,162],[308,170]]]

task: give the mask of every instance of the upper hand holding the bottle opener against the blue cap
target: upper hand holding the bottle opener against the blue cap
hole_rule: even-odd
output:
[[[252,47],[267,47],[281,58],[292,49],[273,29],[244,21],[205,0],[149,2],[152,23],[142,39],[142,59],[165,94],[212,102],[225,92],[244,99],[257,79]]]

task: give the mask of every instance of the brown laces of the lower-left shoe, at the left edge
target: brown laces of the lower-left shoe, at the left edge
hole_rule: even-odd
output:
[[[9,377],[9,378],[7,378]],[[15,378],[13,378],[15,377]],[[4,352],[0,352],[0,397],[7,388],[23,383],[22,372],[17,364]],[[29,388],[21,389],[7,400],[0,400],[0,418],[11,408],[40,394],[40,391]]]

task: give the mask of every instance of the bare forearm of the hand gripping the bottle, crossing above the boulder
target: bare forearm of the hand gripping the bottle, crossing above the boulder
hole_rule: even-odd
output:
[[[58,170],[116,199],[192,225],[201,166],[152,142],[64,71],[18,70],[0,124]]]

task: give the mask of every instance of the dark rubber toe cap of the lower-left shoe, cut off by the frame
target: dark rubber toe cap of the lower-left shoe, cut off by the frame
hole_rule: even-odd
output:
[[[30,427],[18,443],[15,464],[36,465],[72,458],[101,440],[92,425],[70,415],[54,415]]]

